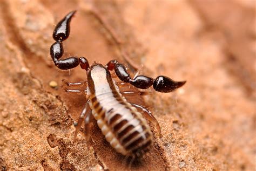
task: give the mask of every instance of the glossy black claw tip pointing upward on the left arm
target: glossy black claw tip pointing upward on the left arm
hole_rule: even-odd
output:
[[[55,30],[53,31],[53,35],[52,35],[53,39],[58,41],[58,40],[65,40],[69,37],[70,21],[75,13],[76,11],[71,11],[62,20],[60,20]]]

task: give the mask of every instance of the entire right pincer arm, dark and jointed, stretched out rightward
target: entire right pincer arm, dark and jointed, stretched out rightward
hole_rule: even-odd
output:
[[[117,77],[125,83],[130,83],[134,87],[146,89],[153,85],[154,90],[163,93],[169,93],[177,88],[183,86],[186,81],[173,81],[171,78],[165,76],[158,76],[156,79],[146,76],[136,76],[134,79],[127,73],[125,66],[119,64],[117,60],[111,60],[107,63],[106,68],[108,70],[114,70]]]

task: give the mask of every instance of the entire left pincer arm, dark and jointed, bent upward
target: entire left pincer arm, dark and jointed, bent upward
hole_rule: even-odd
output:
[[[71,11],[66,15],[60,22],[57,24],[55,30],[53,31],[53,39],[56,40],[50,47],[50,54],[54,64],[60,70],[69,70],[80,64],[82,69],[88,70],[89,63],[84,57],[70,57],[66,59],[59,59],[63,56],[63,45],[62,41],[69,37],[70,33],[70,21],[71,18],[75,15],[76,11]]]

